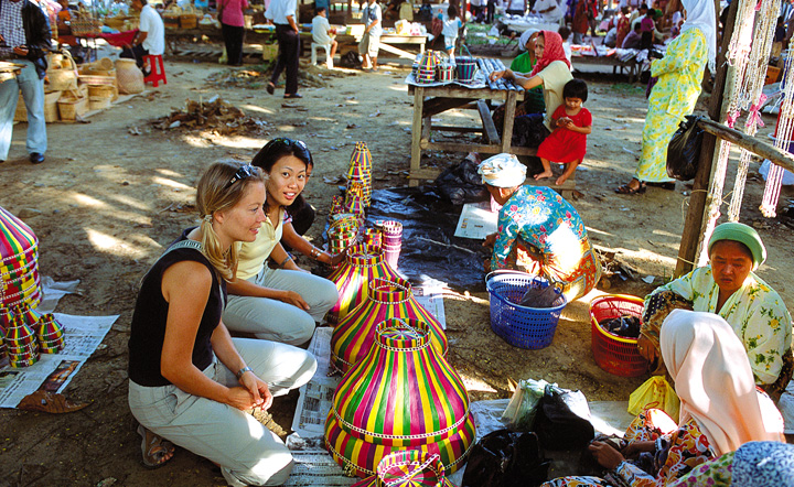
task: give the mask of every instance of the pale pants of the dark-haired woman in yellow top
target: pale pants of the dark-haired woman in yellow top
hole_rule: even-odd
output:
[[[336,285],[308,272],[270,269],[248,279],[262,288],[294,291],[309,304],[305,312],[298,306],[267,297],[228,295],[223,321],[235,332],[253,333],[257,338],[289,345],[303,345],[339,300]]]

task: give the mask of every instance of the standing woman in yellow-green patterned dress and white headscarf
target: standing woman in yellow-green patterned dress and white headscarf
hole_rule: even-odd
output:
[[[645,193],[651,183],[673,190],[674,180],[667,175],[667,144],[684,117],[695,109],[700,96],[700,82],[708,63],[715,72],[717,34],[713,2],[683,0],[686,22],[682,33],[661,59],[651,63],[651,76],[658,77],[648,97],[648,111],[643,128],[642,154],[634,177],[615,188],[620,194]]]

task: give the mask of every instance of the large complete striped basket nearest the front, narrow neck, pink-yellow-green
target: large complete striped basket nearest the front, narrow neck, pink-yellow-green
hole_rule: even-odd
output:
[[[417,320],[389,318],[367,355],[342,378],[325,421],[325,446],[347,474],[375,475],[391,453],[438,455],[458,470],[476,431],[458,372]]]

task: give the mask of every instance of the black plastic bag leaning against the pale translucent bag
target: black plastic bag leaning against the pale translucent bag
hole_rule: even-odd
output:
[[[587,399],[580,391],[546,386],[533,431],[546,450],[582,448],[596,436],[596,430],[586,418],[589,415]]]

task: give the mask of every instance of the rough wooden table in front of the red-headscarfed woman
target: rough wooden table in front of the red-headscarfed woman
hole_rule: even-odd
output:
[[[497,154],[507,152],[516,155],[535,155],[537,149],[525,147],[512,147],[513,119],[515,116],[516,101],[524,99],[524,90],[518,89],[491,89],[465,88],[457,84],[443,86],[414,86],[408,85],[408,95],[414,95],[414,125],[411,127],[411,162],[409,185],[417,186],[419,180],[433,180],[440,173],[434,169],[421,169],[421,151],[437,150],[449,152],[480,152],[485,154]],[[505,117],[500,138],[491,117],[491,109],[486,101],[504,100]],[[463,108],[478,110],[481,127],[432,127],[432,117],[447,110]],[[432,130],[446,132],[480,132],[484,143],[471,142],[434,142],[430,140]]]

